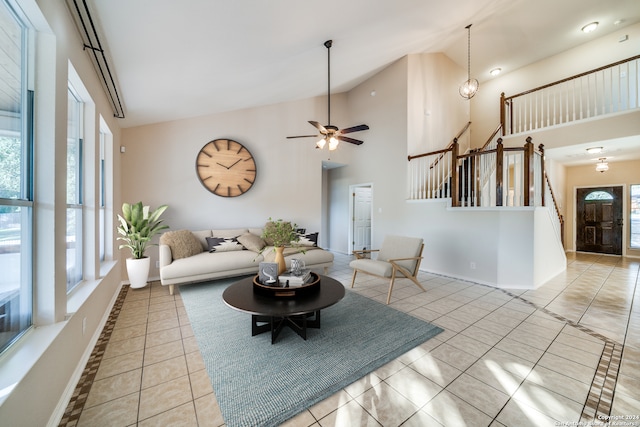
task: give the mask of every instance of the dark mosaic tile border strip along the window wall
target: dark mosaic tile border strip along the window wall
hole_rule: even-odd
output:
[[[122,305],[124,304],[128,290],[129,286],[123,286],[120,289],[120,293],[118,294],[118,297],[113,304],[113,308],[109,313],[109,318],[102,328],[98,341],[93,347],[91,356],[89,356],[89,360],[85,365],[82,375],[80,376],[80,380],[78,381],[73,395],[67,404],[67,409],[58,424],[59,427],[74,427],[78,424],[80,415],[82,414],[82,410],[84,409],[84,405],[87,401],[87,397],[89,396],[89,391],[91,390],[93,381],[98,373],[100,362],[102,362],[102,357],[104,356],[107,344],[109,344],[109,339],[113,333],[116,320],[122,311]]]

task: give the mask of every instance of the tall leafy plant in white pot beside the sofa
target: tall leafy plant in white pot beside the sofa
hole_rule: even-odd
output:
[[[162,205],[151,211],[142,202],[136,204],[123,203],[122,215],[118,215],[118,238],[124,243],[119,249],[129,248],[131,258],[127,258],[127,274],[132,288],[142,288],[147,285],[149,278],[150,259],[145,256],[149,246],[155,246],[151,239],[162,230],[169,228],[163,225],[160,216],[167,209]]]

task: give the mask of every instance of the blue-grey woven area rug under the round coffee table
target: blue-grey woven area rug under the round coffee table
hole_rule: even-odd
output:
[[[222,301],[236,280],[180,287],[229,427],[277,426],[442,332],[347,290],[306,341],[284,328],[272,345],[269,333],[251,336],[251,315]]]

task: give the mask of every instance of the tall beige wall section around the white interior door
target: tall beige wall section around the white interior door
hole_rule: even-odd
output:
[[[408,58],[396,61],[349,92],[350,123],[366,123],[364,144],[337,150],[347,166],[329,171],[329,247],[349,248],[349,186],[373,185],[372,246],[403,216],[407,197]],[[371,96],[375,90],[376,95]]]

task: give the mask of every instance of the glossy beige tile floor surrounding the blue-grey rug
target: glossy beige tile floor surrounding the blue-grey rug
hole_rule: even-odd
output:
[[[349,285],[349,256],[329,275]],[[535,291],[428,273],[392,305],[445,332],[287,426],[640,425],[640,261],[569,254]],[[384,302],[387,283],[355,291]],[[61,426],[221,426],[180,295],[124,287]],[[582,421],[582,423],[579,423]]]

